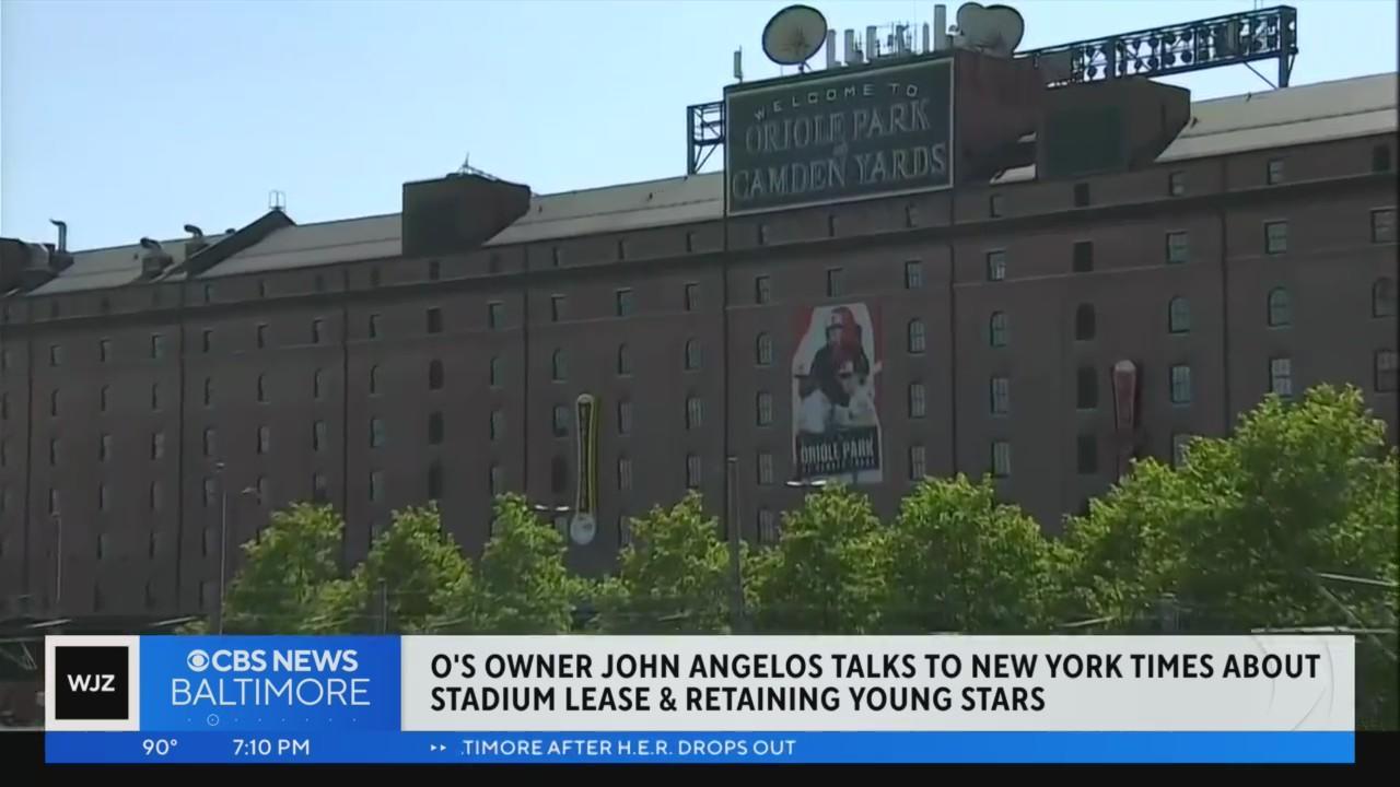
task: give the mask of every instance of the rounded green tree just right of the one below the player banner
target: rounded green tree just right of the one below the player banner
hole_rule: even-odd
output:
[[[900,506],[888,549],[883,625],[890,632],[1016,633],[1043,629],[1051,543],[990,479],[927,479]]]

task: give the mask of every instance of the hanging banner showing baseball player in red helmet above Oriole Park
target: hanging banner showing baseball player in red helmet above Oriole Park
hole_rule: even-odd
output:
[[[879,483],[881,371],[865,304],[815,307],[792,353],[792,466],[797,480]]]

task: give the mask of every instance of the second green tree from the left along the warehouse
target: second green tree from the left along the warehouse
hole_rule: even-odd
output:
[[[435,504],[395,511],[349,580],[323,594],[326,618],[360,633],[427,633],[475,623],[472,564],[442,529]],[[448,612],[452,615],[448,615]]]

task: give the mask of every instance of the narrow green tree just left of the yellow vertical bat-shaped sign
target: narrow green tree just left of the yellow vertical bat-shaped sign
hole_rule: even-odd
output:
[[[564,566],[564,539],[519,494],[496,501],[496,535],[480,562],[483,627],[501,634],[570,630],[584,583]]]

